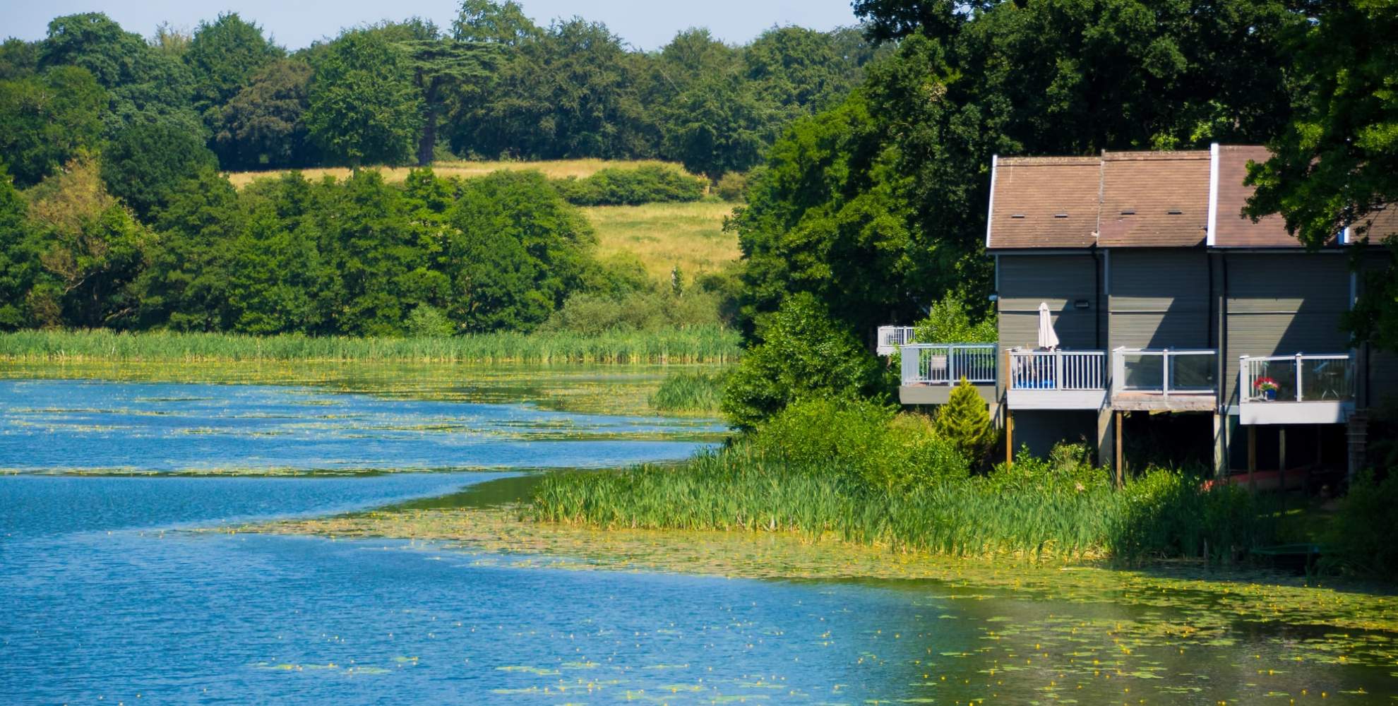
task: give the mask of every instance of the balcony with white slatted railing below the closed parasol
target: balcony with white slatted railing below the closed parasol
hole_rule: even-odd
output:
[[[1009,351],[1012,410],[1100,410],[1107,401],[1106,351]]]

